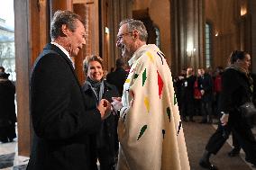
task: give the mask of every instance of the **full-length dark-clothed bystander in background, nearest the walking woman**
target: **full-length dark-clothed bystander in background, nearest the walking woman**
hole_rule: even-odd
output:
[[[202,81],[200,85],[200,91],[202,94],[201,98],[201,112],[203,119],[201,123],[212,123],[212,104],[214,99],[214,92],[213,92],[213,79],[210,74],[208,74],[207,70],[205,71],[204,68],[201,69],[202,71]],[[207,118],[208,117],[208,118]]]

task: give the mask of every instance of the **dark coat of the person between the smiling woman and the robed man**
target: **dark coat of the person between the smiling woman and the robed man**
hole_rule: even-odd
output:
[[[123,94],[123,84],[128,76],[128,73],[122,68],[116,68],[114,72],[109,73],[106,76],[106,81],[111,85],[115,85],[118,89],[118,93],[120,96]]]

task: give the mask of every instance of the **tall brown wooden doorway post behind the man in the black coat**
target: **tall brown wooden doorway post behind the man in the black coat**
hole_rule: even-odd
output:
[[[48,41],[47,0],[14,1],[18,154],[29,156],[32,145],[29,82],[33,62]]]

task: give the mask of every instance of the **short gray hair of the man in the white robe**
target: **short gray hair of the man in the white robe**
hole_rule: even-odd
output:
[[[127,24],[127,29],[129,32],[132,32],[134,30],[138,31],[140,40],[148,40],[148,32],[143,22],[134,19],[126,19],[120,22],[119,26],[121,27],[123,24]]]

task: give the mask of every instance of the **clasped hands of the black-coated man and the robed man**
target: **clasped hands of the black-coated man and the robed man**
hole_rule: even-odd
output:
[[[116,113],[123,107],[120,97],[112,97],[112,99],[113,103],[109,103],[106,99],[102,99],[97,106],[102,120],[105,120],[111,112]]]

